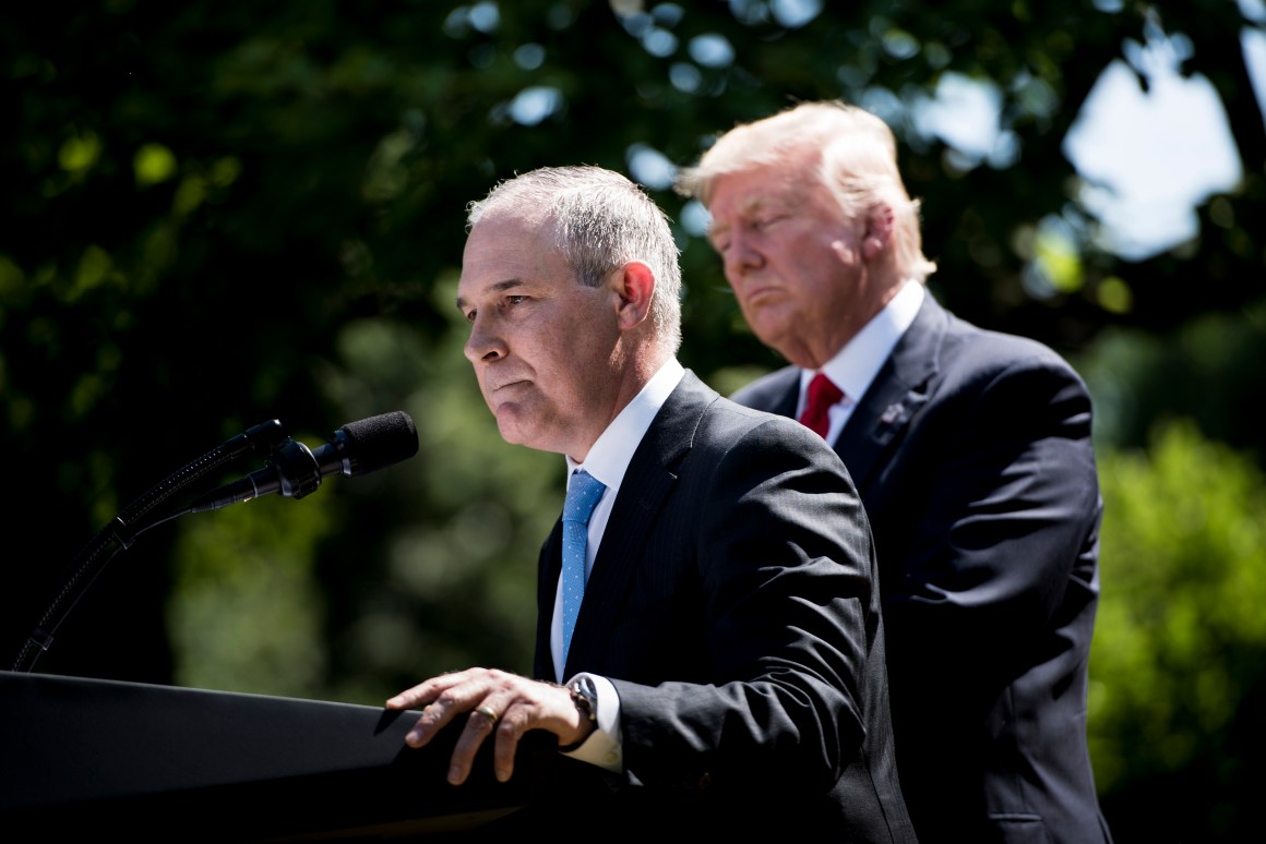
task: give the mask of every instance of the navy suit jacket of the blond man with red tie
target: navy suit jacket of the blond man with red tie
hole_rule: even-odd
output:
[[[799,371],[734,395],[791,416]],[[1090,397],[931,295],[836,450],[879,553],[901,788],[929,841],[1109,840],[1086,749],[1103,505]]]

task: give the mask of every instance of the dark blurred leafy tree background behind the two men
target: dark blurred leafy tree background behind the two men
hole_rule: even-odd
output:
[[[1266,782],[1266,121],[1241,35],[1263,18],[1228,0],[6,8],[0,644],[18,652],[111,519],[251,425],[316,445],[404,410],[405,463],[148,530],[37,669],[371,705],[467,664],[528,671],[562,462],[500,440],[461,357],[466,202],[543,164],[642,181],[682,247],[681,359],[728,391],[779,361],[668,177],[736,121],[843,97],[898,132],[937,295],[1050,343],[1094,394],[1090,730],[1118,840],[1243,840]],[[1131,258],[1065,142],[1103,70],[1157,33],[1215,90],[1243,175],[1195,237]],[[951,73],[995,86],[1008,154],[919,121]]]

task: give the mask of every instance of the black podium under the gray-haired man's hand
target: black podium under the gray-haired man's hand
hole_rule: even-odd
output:
[[[454,787],[444,774],[457,730],[410,749],[417,716],[0,672],[0,829],[53,840],[470,839],[513,822],[556,755],[551,734],[529,733],[499,783],[485,743]]]

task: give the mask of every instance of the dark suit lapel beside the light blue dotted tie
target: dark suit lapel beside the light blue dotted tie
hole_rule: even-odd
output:
[[[675,469],[690,452],[704,410],[718,397],[687,371],[633,453],[598,547],[594,571],[585,585],[565,676],[601,664],[603,650],[629,593],[629,582],[646,555],[655,521],[677,481]],[[557,583],[557,574],[553,582]]]

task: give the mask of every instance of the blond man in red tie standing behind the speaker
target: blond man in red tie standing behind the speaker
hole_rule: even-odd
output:
[[[733,397],[818,430],[862,495],[920,841],[1110,840],[1086,748],[1103,507],[1081,380],[933,299],[893,133],[861,109],[739,125],[677,190],[791,363]]]

